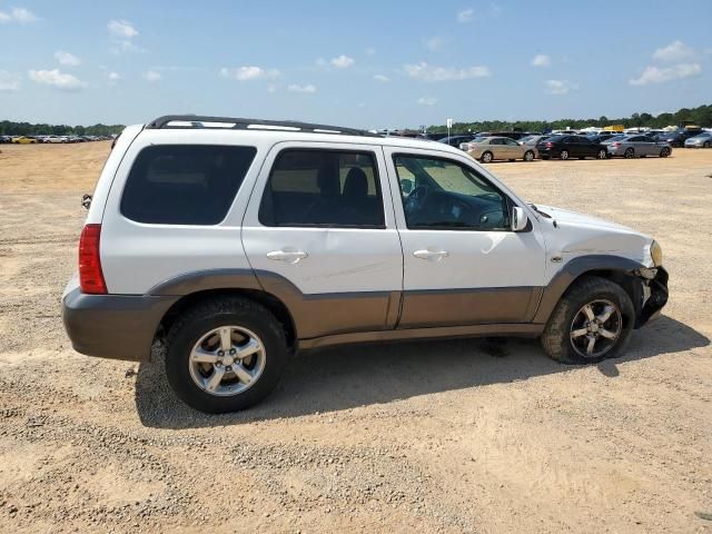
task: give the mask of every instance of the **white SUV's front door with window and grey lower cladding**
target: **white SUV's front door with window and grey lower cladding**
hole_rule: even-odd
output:
[[[404,254],[398,328],[522,323],[544,278],[538,222],[511,230],[514,204],[465,157],[385,149]],[[526,208],[528,209],[528,208]]]

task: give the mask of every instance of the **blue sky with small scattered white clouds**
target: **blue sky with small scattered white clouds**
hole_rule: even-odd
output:
[[[712,101],[710,28],[710,0],[0,0],[0,119],[659,113]]]

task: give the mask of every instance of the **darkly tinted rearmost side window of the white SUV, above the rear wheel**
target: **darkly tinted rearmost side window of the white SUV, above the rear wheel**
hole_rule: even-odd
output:
[[[140,151],[121,214],[137,222],[217,225],[227,215],[257,149],[158,145]]]

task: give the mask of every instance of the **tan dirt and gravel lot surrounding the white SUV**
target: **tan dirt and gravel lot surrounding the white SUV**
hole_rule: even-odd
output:
[[[532,201],[660,240],[672,299],[624,358],[329,349],[212,417],[175,399],[159,358],[65,337],[79,199],[108,144],[0,150],[0,532],[712,532],[712,150],[491,166]]]

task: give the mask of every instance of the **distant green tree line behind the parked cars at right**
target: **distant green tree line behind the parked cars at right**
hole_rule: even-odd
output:
[[[624,128],[664,128],[666,126],[682,126],[692,123],[701,127],[712,127],[712,105],[699,106],[696,108],[682,108],[674,113],[660,113],[653,116],[651,113],[641,112],[633,113],[625,118],[609,118],[601,116],[597,119],[560,119],[560,120],[520,120],[511,122],[506,120],[484,120],[474,122],[455,122],[452,131],[511,131],[514,128],[521,128],[523,131],[545,131],[547,129],[562,130],[566,127],[572,129],[586,128],[589,126],[606,127],[612,125],[623,125]],[[445,125],[431,126],[428,132],[447,131]]]

